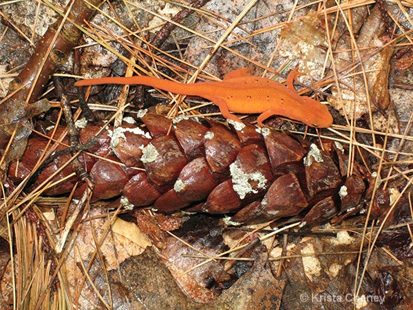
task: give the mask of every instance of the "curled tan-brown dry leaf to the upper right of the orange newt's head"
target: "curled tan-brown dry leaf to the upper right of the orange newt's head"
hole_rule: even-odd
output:
[[[358,68],[356,76],[340,79],[340,89],[332,87],[332,96],[328,97],[328,103],[339,110],[341,114],[356,119],[369,113],[368,97],[370,98],[372,112],[383,110],[389,105],[388,79],[390,72],[390,57],[393,45],[387,45],[386,31],[388,25],[382,19],[379,6],[374,6],[359,32],[357,47],[363,61],[363,70],[366,71],[366,79],[369,94],[366,93],[366,83],[362,70]],[[345,36],[342,38],[346,38]],[[341,40],[339,50],[348,50],[351,47],[350,38]],[[384,48],[383,48],[384,47]],[[381,49],[380,49],[381,48]],[[380,49],[378,52],[377,50]],[[337,54],[337,70],[345,68],[352,61],[352,55],[348,53]],[[359,56],[357,56],[359,59]],[[358,61],[358,60],[357,60]]]

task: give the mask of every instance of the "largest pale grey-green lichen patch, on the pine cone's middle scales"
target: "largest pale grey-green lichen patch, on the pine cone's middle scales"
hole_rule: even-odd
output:
[[[229,171],[232,177],[233,189],[241,199],[244,199],[247,194],[257,194],[257,189],[263,189],[268,182],[261,172],[247,174],[236,163],[229,165]],[[253,188],[250,181],[257,182],[256,188]]]

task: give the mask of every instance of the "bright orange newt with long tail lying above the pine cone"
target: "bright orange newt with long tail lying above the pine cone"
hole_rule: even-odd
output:
[[[258,125],[266,118],[286,116],[311,127],[329,127],[332,116],[326,105],[307,96],[299,96],[293,81],[300,73],[293,70],[288,74],[287,87],[270,79],[248,74],[253,68],[241,68],[229,72],[220,82],[201,82],[193,84],[178,83],[151,76],[106,77],[78,81],[74,85],[97,84],[140,84],[160,90],[189,96],[200,96],[218,105],[222,116],[240,121],[231,112],[258,116]]]

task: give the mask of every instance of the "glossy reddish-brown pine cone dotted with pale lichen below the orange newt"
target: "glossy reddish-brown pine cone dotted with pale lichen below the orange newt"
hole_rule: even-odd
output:
[[[98,136],[88,152],[104,159],[86,152],[79,156],[94,181],[92,200],[121,196],[128,207],[231,213],[233,223],[310,210],[303,223],[313,225],[348,209],[359,211],[369,194],[366,183],[372,178],[366,178],[361,165],[353,163],[354,173],[346,178],[348,156],[338,143],[326,143],[325,152],[288,132],[257,130],[250,123],[229,129],[209,118],[178,117],[172,122],[160,114],[142,113],[140,119],[145,126],[108,126]],[[56,134],[63,130],[59,128]],[[98,130],[96,125],[87,125],[81,131],[82,143]],[[10,180],[19,183],[30,173],[48,141],[41,136],[30,138],[21,161],[9,167]],[[56,152],[63,148],[59,146]],[[32,187],[70,158],[70,154],[56,158],[42,169]],[[72,173],[72,166],[67,165],[52,181]],[[44,193],[66,194],[78,181],[78,176],[72,176]],[[85,186],[78,187],[75,196]],[[383,201],[375,205],[377,216],[382,205]]]

